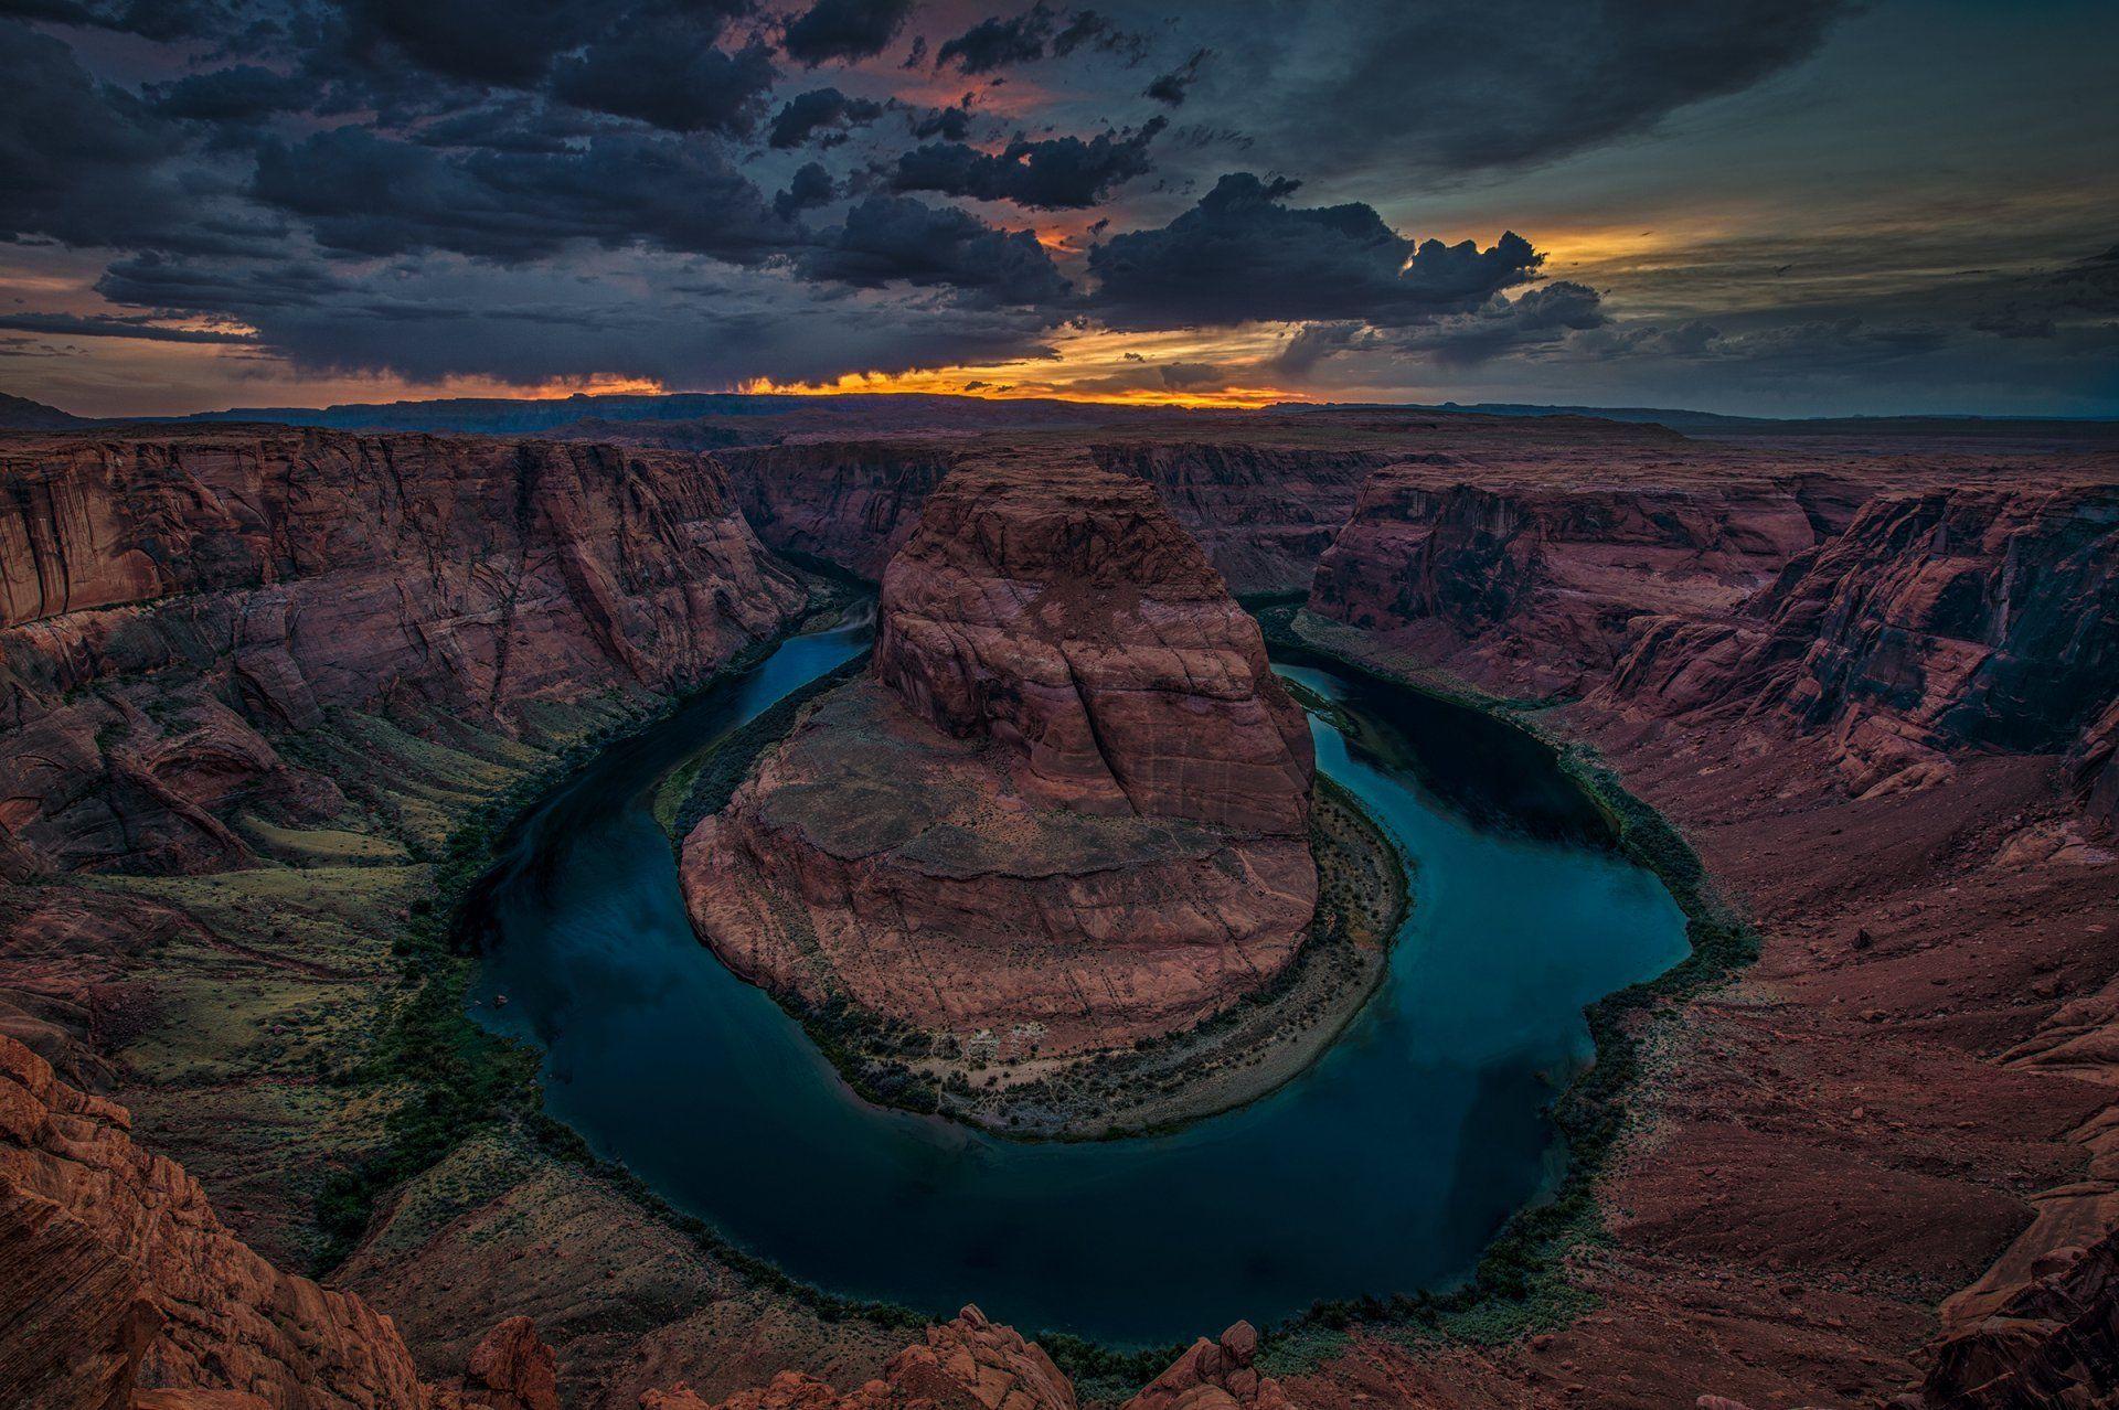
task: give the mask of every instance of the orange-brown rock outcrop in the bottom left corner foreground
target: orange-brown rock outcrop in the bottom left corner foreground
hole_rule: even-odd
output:
[[[496,1327],[462,1395],[426,1385],[388,1317],[252,1253],[133,1145],[125,1107],[4,1035],[0,1268],[0,1404],[557,1410],[526,1321]]]

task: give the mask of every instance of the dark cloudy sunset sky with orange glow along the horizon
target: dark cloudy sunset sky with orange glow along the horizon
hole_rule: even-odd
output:
[[[0,392],[2119,415],[2108,0],[0,0]]]

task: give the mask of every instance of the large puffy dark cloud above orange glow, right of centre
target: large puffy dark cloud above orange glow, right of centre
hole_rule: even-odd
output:
[[[1089,252],[1093,307],[1127,328],[1360,320],[1403,326],[1483,305],[1532,277],[1541,256],[1507,233],[1415,243],[1360,203],[1293,207],[1295,182],[1221,178],[1163,229]]]

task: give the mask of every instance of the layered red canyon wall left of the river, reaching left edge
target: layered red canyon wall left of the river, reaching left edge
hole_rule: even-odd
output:
[[[536,735],[803,601],[718,466],[284,428],[0,440],[0,874],[210,870],[337,815],[335,709]]]

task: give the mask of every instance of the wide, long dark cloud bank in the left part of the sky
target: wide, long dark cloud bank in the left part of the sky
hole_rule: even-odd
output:
[[[371,256],[519,263],[593,241],[756,263],[797,237],[718,150],[631,133],[564,152],[439,152],[339,127],[261,148],[252,193],[324,246]]]

